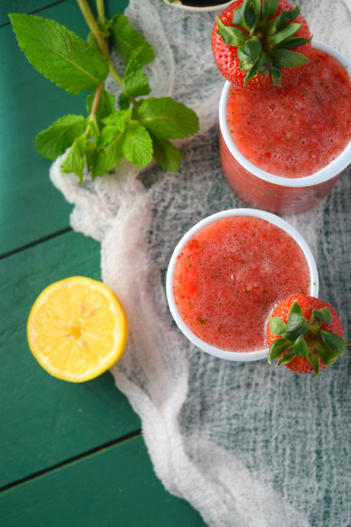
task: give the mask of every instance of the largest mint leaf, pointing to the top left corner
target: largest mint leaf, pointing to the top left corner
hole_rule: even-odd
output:
[[[91,90],[107,77],[105,58],[67,27],[40,16],[9,16],[29,63],[69,93]]]

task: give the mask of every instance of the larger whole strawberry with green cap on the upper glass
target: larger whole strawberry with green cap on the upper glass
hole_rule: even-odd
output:
[[[266,91],[300,74],[311,53],[307,22],[287,0],[237,0],[216,18],[212,50],[234,86]],[[295,51],[291,51],[292,48]]]

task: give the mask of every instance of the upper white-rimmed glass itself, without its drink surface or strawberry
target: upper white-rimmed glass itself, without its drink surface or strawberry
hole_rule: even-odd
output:
[[[312,46],[328,53],[344,65],[351,76],[351,61],[322,42]],[[249,162],[232,141],[227,126],[227,97],[230,82],[226,82],[220,97],[220,160],[223,174],[234,192],[253,207],[270,212],[294,214],[313,207],[324,197],[351,162],[351,141],[341,154],[322,170],[303,178],[275,176]]]

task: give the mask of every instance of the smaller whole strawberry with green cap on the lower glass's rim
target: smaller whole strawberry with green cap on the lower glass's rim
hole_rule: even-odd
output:
[[[266,339],[268,362],[279,358],[297,373],[315,373],[335,363],[350,346],[343,338],[343,326],[334,308],[323,300],[293,294],[268,317]]]

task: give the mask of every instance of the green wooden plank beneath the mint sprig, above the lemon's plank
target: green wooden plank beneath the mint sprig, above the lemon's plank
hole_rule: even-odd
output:
[[[6,4],[14,11],[11,2]],[[126,0],[114,4],[120,11]],[[81,37],[88,33],[73,0],[37,14],[58,20]],[[72,96],[34,70],[11,25],[0,28],[0,47],[0,252],[5,254],[69,225],[72,206],[51,184],[51,162],[36,152],[35,136],[62,115],[85,115],[86,93]]]

